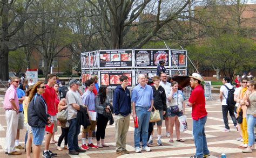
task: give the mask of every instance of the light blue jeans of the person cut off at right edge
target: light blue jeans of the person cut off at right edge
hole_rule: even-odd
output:
[[[247,121],[247,133],[248,133],[248,146],[254,145],[255,135],[254,135],[254,125],[256,122],[256,117],[253,117],[252,114],[246,115]]]

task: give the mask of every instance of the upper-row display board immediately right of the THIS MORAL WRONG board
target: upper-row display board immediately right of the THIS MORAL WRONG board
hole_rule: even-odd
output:
[[[157,67],[160,59],[169,66],[169,49],[134,49],[137,67]]]

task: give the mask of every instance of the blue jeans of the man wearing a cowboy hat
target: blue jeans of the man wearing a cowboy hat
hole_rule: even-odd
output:
[[[207,116],[198,120],[193,120],[194,144],[196,145],[196,156],[198,157],[203,157],[203,155],[210,154],[205,137],[206,120]]]

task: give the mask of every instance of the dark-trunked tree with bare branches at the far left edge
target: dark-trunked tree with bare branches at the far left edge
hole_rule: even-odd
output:
[[[0,79],[9,80],[8,54],[22,47],[14,36],[22,28],[29,17],[28,8],[33,0],[0,2],[1,30],[0,30]]]

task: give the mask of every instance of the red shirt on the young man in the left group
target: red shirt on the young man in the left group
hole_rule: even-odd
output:
[[[56,105],[55,99],[57,98],[57,94],[54,90],[53,87],[49,87],[49,85],[45,85],[45,93],[42,95],[46,104],[47,104],[47,113],[50,114],[51,116],[55,116],[57,109],[58,109],[58,104]]]

